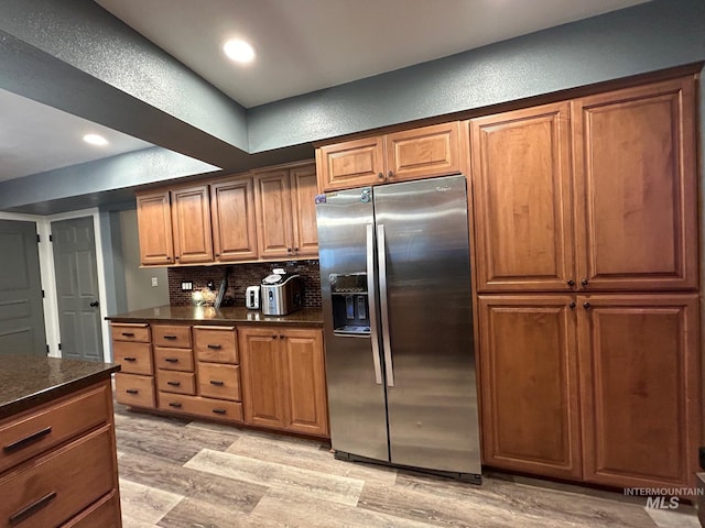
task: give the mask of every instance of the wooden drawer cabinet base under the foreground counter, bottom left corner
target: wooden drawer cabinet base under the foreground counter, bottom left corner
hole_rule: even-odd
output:
[[[0,526],[122,526],[109,378],[0,421]]]

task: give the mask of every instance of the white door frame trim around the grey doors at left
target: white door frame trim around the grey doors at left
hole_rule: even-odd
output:
[[[100,296],[99,308],[101,314],[100,333],[102,336],[102,361],[109,362],[111,360],[109,345],[110,326],[105,319],[108,314],[107,285],[102,255],[102,233],[100,232],[100,211],[98,208],[80,209],[46,217],[0,211],[0,220],[30,221],[36,223],[36,232],[40,235],[40,277],[42,282],[42,289],[44,290],[44,331],[46,333],[50,358],[62,356],[62,352],[58,350],[58,343],[62,342],[62,339],[58,327],[58,298],[56,295],[54,252],[52,251],[52,245],[48,242],[48,237],[52,232],[52,222],[83,217],[93,218],[93,229],[96,240],[96,273],[98,275],[98,294]]]

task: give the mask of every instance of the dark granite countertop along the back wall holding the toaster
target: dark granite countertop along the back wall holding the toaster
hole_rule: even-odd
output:
[[[321,308],[302,308],[286,316],[264,316],[243,307],[158,306],[106,317],[112,322],[191,322],[196,324],[296,324],[323,327]]]

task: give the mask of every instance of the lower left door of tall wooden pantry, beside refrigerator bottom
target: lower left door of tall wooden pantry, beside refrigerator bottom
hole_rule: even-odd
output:
[[[579,477],[575,314],[568,296],[480,296],[484,463]]]

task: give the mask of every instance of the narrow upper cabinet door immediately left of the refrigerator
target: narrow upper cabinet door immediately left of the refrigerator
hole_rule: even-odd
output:
[[[296,256],[318,255],[316,193],[315,165],[291,169],[293,243]]]

